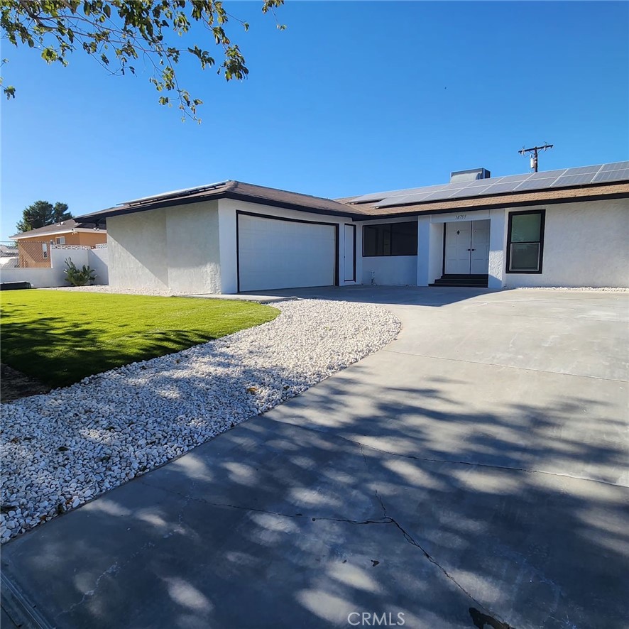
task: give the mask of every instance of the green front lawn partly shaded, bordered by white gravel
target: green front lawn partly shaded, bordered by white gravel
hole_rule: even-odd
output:
[[[275,319],[252,302],[63,290],[0,292],[1,361],[53,387]]]

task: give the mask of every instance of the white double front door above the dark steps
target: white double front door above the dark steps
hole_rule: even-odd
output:
[[[446,223],[444,273],[484,275],[489,270],[489,222]]]

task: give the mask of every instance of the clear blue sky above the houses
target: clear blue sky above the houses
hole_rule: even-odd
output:
[[[261,4],[261,3],[260,3]],[[1,234],[26,205],[75,214],[225,179],[340,197],[629,158],[629,3],[225,0],[250,75],[180,67],[202,125],[157,104],[147,75],[66,68],[3,45]],[[207,45],[209,48],[209,44]]]

